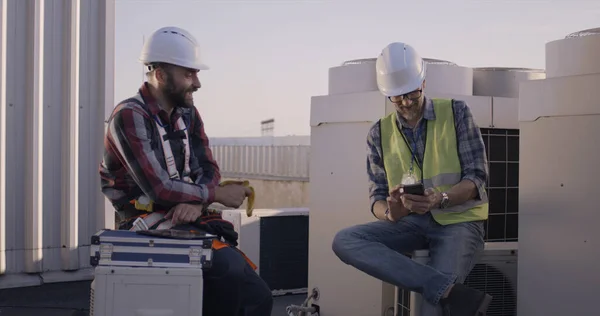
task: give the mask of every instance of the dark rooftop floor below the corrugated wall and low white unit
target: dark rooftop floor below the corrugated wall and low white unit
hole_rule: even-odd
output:
[[[0,290],[1,316],[89,316],[91,281],[50,283]],[[271,316],[288,316],[285,308],[300,305],[304,294],[275,297]]]

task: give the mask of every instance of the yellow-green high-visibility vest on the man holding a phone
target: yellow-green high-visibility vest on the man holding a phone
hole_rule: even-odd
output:
[[[417,178],[423,175],[423,185],[426,189],[434,188],[438,192],[445,192],[461,181],[454,113],[452,100],[433,99],[432,101],[435,119],[426,120],[423,171],[416,163],[414,169]],[[383,164],[390,188],[400,184],[402,175],[410,169],[412,159],[409,146],[396,120],[395,111],[380,120]],[[488,217],[487,193],[484,190],[479,200],[471,200],[462,205],[443,210],[432,209],[431,214],[442,225],[485,220]]]

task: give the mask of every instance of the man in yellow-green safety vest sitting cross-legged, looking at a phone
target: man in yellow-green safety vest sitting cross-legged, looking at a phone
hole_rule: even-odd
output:
[[[488,217],[480,130],[465,102],[423,94],[426,64],[410,45],[389,44],[375,67],[379,91],[396,108],[367,137],[371,212],[379,220],[338,232],[333,251],[420,293],[422,315],[485,315],[491,296],[462,284],[483,250]],[[428,265],[405,255],[418,249],[429,249]]]

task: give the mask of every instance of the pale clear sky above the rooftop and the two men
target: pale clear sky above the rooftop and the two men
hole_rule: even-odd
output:
[[[196,105],[209,137],[310,133],[310,97],[330,67],[390,42],[467,67],[545,68],[549,41],[600,27],[599,0],[116,0],[116,101],[143,81],[143,37],[187,29],[211,69]]]

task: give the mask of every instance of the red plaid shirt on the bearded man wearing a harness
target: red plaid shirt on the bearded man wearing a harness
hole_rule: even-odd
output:
[[[170,209],[179,203],[210,204],[221,175],[208,146],[204,124],[195,107],[177,107],[171,117],[162,110],[145,84],[135,102],[118,104],[104,138],[104,156],[100,164],[102,193],[117,210],[130,200],[145,194],[158,208]],[[194,183],[170,179],[160,136],[152,115],[157,115],[167,132],[183,116],[190,143],[190,177]],[[187,120],[186,120],[187,118]],[[179,174],[183,174],[183,141],[169,140]]]

